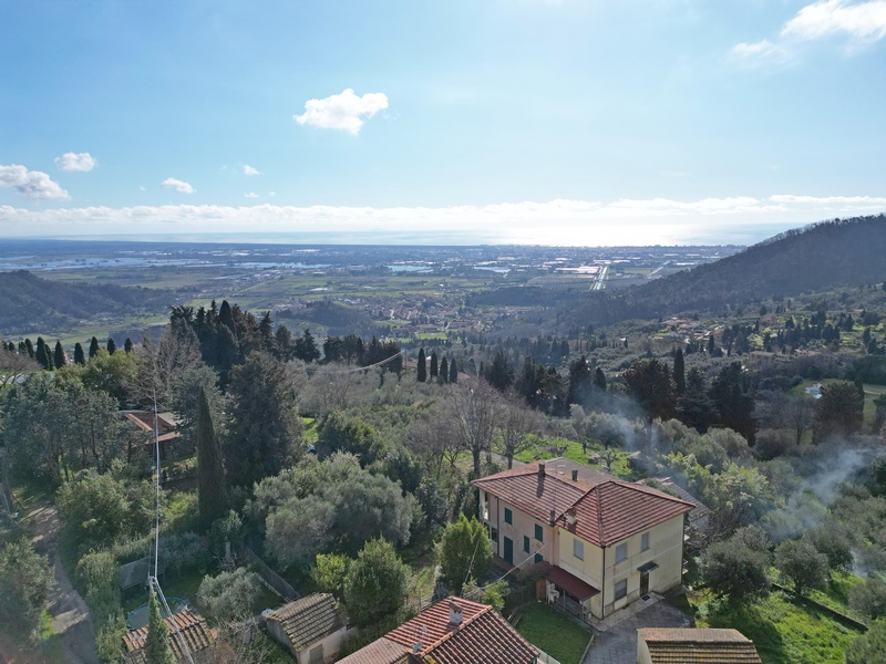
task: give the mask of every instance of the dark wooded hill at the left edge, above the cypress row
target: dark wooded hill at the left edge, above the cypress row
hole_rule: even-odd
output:
[[[0,272],[0,333],[58,332],[96,317],[155,314],[175,293],[109,283],[76,286],[40,279],[25,270]]]

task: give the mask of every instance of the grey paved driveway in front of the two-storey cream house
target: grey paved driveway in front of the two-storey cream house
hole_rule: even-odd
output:
[[[637,630],[691,626],[692,619],[689,615],[660,600],[629,615],[606,632],[597,632],[594,645],[588,650],[581,664],[631,664],[637,662]]]

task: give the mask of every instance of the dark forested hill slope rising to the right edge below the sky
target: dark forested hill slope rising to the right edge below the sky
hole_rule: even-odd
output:
[[[886,216],[823,221],[640,287],[590,293],[565,318],[570,324],[607,324],[880,283],[886,279],[884,257]]]

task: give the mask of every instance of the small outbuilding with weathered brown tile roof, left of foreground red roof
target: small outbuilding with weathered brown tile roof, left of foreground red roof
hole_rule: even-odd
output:
[[[328,592],[289,602],[266,616],[268,633],[285,645],[299,664],[329,664],[341,651],[347,625]]]

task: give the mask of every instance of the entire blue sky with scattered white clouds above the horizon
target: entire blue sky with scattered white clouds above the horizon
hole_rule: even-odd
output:
[[[10,0],[0,63],[0,241],[745,245],[886,211],[886,0]]]

